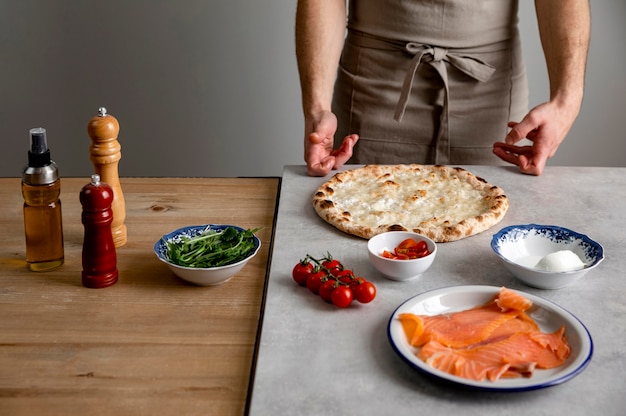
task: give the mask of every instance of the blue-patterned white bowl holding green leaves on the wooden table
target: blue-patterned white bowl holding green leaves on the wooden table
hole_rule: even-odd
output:
[[[154,243],[154,253],[157,255],[159,260],[167,264],[167,266],[170,268],[170,270],[172,270],[172,272],[174,272],[176,276],[198,286],[215,286],[228,281],[230,278],[239,273],[239,271],[250,261],[250,259],[252,259],[258,253],[259,248],[261,248],[261,241],[255,235],[254,250],[248,257],[241,261],[238,261],[237,263],[219,267],[200,268],[179,266],[169,261],[169,259],[167,258],[167,246],[165,245],[165,241],[171,241],[180,237],[181,235],[193,237],[200,234],[207,227],[218,231],[228,227],[233,227],[237,231],[244,231],[244,229],[241,227],[227,224],[192,225],[189,227],[179,228],[178,230],[165,234],[159,239],[159,241]]]

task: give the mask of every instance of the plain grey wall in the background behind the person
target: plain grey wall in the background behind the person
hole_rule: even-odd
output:
[[[521,1],[531,103],[547,95]],[[0,176],[48,130],[63,176],[88,177],[86,126],[120,122],[123,176],[274,176],[302,163],[295,0],[0,0]],[[553,165],[626,166],[626,3],[592,2],[583,112]]]

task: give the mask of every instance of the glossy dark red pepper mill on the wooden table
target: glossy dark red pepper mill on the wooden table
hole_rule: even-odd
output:
[[[79,198],[85,226],[83,285],[95,289],[111,286],[117,282],[118,276],[117,254],[111,232],[113,190],[100,182],[100,175],[93,174],[91,183],[83,187]]]

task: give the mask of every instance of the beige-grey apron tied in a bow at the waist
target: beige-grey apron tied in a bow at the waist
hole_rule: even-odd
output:
[[[335,85],[351,163],[499,164],[528,108],[517,1],[351,0]]]

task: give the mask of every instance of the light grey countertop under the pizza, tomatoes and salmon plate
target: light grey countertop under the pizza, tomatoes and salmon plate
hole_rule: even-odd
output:
[[[513,167],[465,168],[505,190],[511,202],[505,218],[481,234],[439,244],[425,274],[394,282],[369,264],[366,240],[336,230],[313,210],[313,192],[328,177],[285,167],[251,415],[624,414],[626,168],[548,167],[540,177]],[[604,246],[606,258],[572,286],[525,286],[504,269],[490,242],[502,227],[527,223],[587,234]],[[293,266],[307,253],[326,252],[376,285],[372,303],[338,309],[295,284]],[[415,370],[393,350],[389,318],[417,294],[456,285],[506,286],[560,305],[589,330],[590,364],[563,384],[515,393],[470,390]]]

